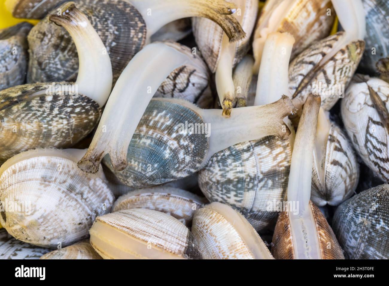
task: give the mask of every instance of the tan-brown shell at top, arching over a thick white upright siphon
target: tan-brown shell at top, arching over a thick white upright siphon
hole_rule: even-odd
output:
[[[329,35],[335,19],[330,0],[268,0],[261,10],[254,32],[254,73],[258,74],[267,36],[272,32],[289,32],[296,43],[291,58],[312,42]]]

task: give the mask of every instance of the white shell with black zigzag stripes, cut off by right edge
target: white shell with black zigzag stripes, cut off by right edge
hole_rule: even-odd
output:
[[[372,101],[369,86],[389,111],[389,83],[356,75],[341,102],[342,119],[356,152],[381,180],[389,181],[389,135]]]

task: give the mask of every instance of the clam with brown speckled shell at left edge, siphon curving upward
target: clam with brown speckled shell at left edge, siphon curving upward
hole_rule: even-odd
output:
[[[0,91],[0,161],[32,148],[74,145],[93,130],[109,96],[112,70],[102,41],[74,4],[61,9],[50,19],[75,40],[81,62],[77,80]]]

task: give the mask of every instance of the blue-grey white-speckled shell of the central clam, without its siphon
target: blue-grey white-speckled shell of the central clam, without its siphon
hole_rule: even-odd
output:
[[[175,102],[151,100],[128,146],[128,166],[115,171],[127,186],[142,188],[174,181],[200,169],[209,146],[204,134],[180,133],[185,123],[203,123],[194,110]]]

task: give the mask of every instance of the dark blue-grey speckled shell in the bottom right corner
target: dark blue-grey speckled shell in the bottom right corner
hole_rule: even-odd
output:
[[[333,229],[348,259],[389,259],[389,186],[377,186],[341,204]]]

